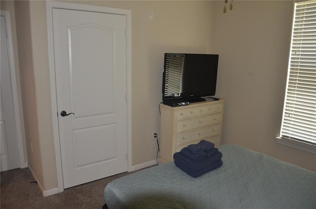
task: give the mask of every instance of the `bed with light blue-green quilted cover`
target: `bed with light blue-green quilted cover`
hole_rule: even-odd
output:
[[[107,207],[316,209],[315,172],[233,144],[218,148],[223,166],[197,178],[169,162],[110,182]]]

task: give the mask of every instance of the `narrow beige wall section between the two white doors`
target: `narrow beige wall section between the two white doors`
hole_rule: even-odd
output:
[[[45,1],[16,1],[28,164],[42,190],[57,185],[50,107]]]

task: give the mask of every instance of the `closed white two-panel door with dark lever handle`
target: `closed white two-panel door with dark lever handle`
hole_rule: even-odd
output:
[[[64,188],[127,171],[125,31],[124,15],[53,8]]]

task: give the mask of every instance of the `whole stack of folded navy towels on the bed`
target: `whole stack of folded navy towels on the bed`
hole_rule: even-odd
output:
[[[201,140],[174,153],[173,159],[179,169],[196,178],[221,167],[222,156],[212,142]]]

